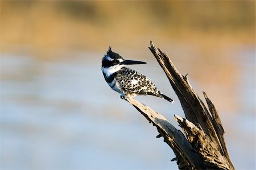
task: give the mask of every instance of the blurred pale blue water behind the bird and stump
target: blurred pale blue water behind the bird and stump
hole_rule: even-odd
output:
[[[246,80],[236,95],[246,101],[253,101],[255,93],[249,77],[254,55],[238,55],[248,77],[242,77]],[[54,60],[1,55],[1,169],[177,169],[170,161],[173,152],[162,138],[155,139],[155,127],[106,84],[101,57],[81,52]],[[183,116],[183,111],[159,65],[150,59],[133,68],[147,73],[175,99],[171,105],[156,97],[138,97],[176,126],[173,115]],[[255,103],[242,101],[247,106],[241,113],[220,114],[235,167],[254,169]]]

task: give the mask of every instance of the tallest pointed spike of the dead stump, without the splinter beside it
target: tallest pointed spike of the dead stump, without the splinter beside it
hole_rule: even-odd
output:
[[[159,65],[166,73],[172,88],[177,94],[177,97],[179,97],[185,117],[194,125],[199,123],[207,135],[210,136],[210,139],[213,142],[218,143],[218,139],[216,140],[217,135],[212,134],[212,132],[214,132],[212,118],[204,106],[204,103],[200,101],[195,90],[193,90],[191,85],[188,83],[187,76],[182,76],[179,71],[177,71],[176,67],[166,53],[162,52],[159,48],[156,48],[152,42],[150,42],[150,45],[150,51],[153,53]]]

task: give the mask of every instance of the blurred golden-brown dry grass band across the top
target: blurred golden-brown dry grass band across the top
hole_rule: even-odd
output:
[[[254,43],[254,1],[1,1],[1,49],[98,50],[150,39],[195,47]],[[148,44],[147,44],[148,45]],[[51,55],[44,55],[50,57]]]

